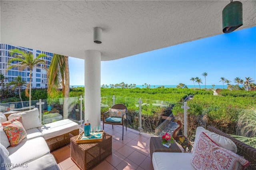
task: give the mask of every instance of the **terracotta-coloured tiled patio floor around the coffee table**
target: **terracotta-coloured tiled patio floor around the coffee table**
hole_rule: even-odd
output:
[[[83,127],[80,129],[83,131]],[[105,124],[104,130],[112,135],[112,155],[93,170],[153,170],[149,150],[150,135],[140,135],[138,131],[129,128],[125,131],[124,127],[122,141],[122,126],[116,125],[112,129],[112,125]],[[70,158],[70,144],[51,153],[60,170],[79,170]]]

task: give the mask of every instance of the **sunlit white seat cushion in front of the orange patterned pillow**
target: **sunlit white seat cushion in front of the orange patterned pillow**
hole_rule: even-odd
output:
[[[36,137],[30,140],[24,139],[18,146],[8,147],[7,150],[9,151],[9,158],[14,165],[30,162],[50,153],[43,137]]]

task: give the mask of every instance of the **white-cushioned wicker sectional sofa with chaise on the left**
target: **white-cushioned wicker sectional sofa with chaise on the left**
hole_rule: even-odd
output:
[[[51,143],[52,141],[60,141],[62,138],[65,138],[64,134],[68,134],[71,131],[76,131],[78,134],[78,124],[69,119],[64,119],[41,125],[37,108],[30,111],[13,113],[8,116],[8,120],[17,116],[22,117],[26,138],[22,139],[17,146],[11,147],[3,126],[2,124],[0,125],[1,170],[58,170],[59,168],[54,156],[50,154],[50,146],[47,141]],[[0,118],[1,123],[6,121],[6,115],[3,113],[0,114]],[[55,140],[55,137],[58,137],[58,140]]]

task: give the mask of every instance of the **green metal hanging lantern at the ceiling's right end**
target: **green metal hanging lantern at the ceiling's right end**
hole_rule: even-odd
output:
[[[222,10],[222,31],[231,33],[243,25],[243,6],[242,2],[230,2]]]

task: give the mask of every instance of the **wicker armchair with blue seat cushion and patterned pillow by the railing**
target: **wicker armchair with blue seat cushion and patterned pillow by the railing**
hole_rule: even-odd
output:
[[[127,113],[127,107],[124,104],[116,104],[112,106],[108,111],[106,111],[102,115],[103,130],[104,130],[104,123],[112,125],[112,129],[114,128],[113,125],[122,125],[123,126],[122,140],[124,140],[124,121],[125,121],[125,127],[127,131],[126,113]]]

